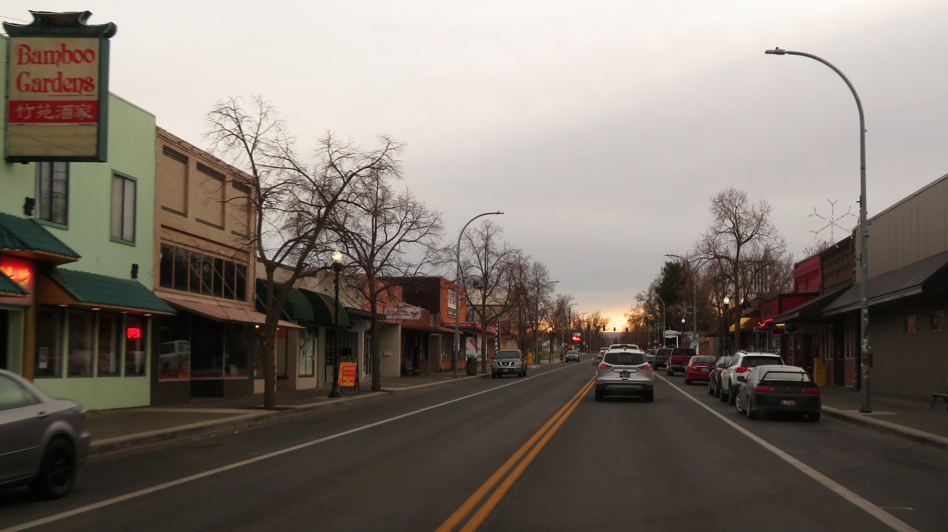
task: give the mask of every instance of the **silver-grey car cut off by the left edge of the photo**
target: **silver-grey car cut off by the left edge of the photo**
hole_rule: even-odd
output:
[[[0,489],[29,486],[47,499],[65,497],[89,455],[84,423],[76,401],[0,370]]]

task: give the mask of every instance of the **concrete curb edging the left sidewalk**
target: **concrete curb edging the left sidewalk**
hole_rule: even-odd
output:
[[[487,376],[490,376],[489,374]],[[465,376],[466,378],[467,376]],[[483,376],[482,376],[483,377]],[[155,445],[159,443],[170,442],[180,438],[187,438],[200,434],[209,434],[221,431],[234,431],[246,429],[247,427],[259,427],[269,423],[275,423],[300,417],[310,413],[317,413],[324,410],[345,407],[346,405],[374,402],[391,397],[394,394],[410,394],[432,386],[447,386],[457,384],[465,378],[459,376],[457,380],[450,379],[444,382],[428,382],[417,386],[409,386],[399,389],[382,390],[380,392],[366,392],[350,397],[342,397],[334,401],[324,401],[308,405],[300,405],[286,410],[262,411],[259,413],[246,413],[230,416],[225,419],[202,421],[192,423],[191,425],[181,425],[169,429],[159,429],[157,431],[138,432],[127,436],[116,436],[100,441],[93,441],[89,445],[89,456],[97,456],[109,452],[115,452],[124,449],[133,449]],[[475,377],[476,378],[476,377]]]

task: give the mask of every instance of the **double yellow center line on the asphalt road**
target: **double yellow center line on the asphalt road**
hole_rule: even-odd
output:
[[[437,532],[451,532],[457,529],[457,527],[467,519],[471,510],[478,504],[481,504],[484,497],[487,497],[486,501],[481,504],[481,507],[478,508],[477,511],[474,512],[474,515],[460,528],[459,532],[473,532],[477,530],[477,528],[481,526],[481,523],[483,523],[483,520],[487,519],[490,512],[494,510],[494,507],[501,502],[501,499],[507,493],[507,490],[510,489],[510,486],[513,486],[514,483],[517,482],[517,479],[520,478],[520,474],[522,474],[524,469],[537,457],[540,449],[543,449],[546,443],[550,441],[550,438],[559,430],[559,427],[562,426],[563,422],[566,421],[566,418],[573,413],[583,396],[589,393],[594,382],[595,379],[590,379],[578,394],[575,394],[572,399],[567,401],[567,403],[563,405],[563,408],[559,409],[549,421],[540,427],[539,431],[533,436],[530,436],[530,439],[527,440],[520,449],[517,449],[517,452],[487,479],[487,482],[477,488],[474,494],[465,501],[465,504],[461,504],[461,507],[455,510],[454,513],[447,518],[447,521],[438,527]]]

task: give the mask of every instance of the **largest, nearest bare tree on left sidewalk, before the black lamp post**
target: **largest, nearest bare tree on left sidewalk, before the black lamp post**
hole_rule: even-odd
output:
[[[325,242],[334,211],[347,199],[353,184],[391,167],[402,145],[383,137],[379,148],[364,150],[327,133],[316,146],[316,161],[306,165],[276,108],[261,97],[218,101],[206,119],[206,138],[212,150],[246,172],[248,182],[243,184],[250,193],[243,201],[251,206],[255,225],[247,246],[253,248],[266,275],[265,293],[260,298],[266,310],[264,408],[273,409],[277,325],[283,304],[297,280],[329,267],[308,261],[311,256],[324,256],[317,252],[319,246]],[[275,279],[280,267],[289,272],[282,283]]]

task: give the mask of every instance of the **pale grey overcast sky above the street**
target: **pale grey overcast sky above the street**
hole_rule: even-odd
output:
[[[303,143],[407,142],[405,184],[446,244],[504,211],[574,312],[614,321],[728,187],[772,204],[795,260],[827,225],[814,208],[858,214],[846,84],[767,48],[859,92],[869,216],[948,174],[944,0],[5,0],[0,17],[29,9],[118,25],[111,91],[200,147],[215,101],[254,94]]]

